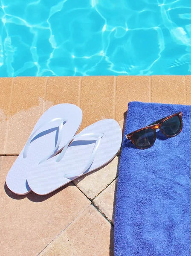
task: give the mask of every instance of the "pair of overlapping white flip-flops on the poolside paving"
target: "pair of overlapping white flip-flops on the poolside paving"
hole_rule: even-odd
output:
[[[43,113],[7,174],[8,188],[18,195],[46,195],[110,162],[122,143],[118,122],[104,119],[75,135],[81,121],[81,109],[72,104]]]

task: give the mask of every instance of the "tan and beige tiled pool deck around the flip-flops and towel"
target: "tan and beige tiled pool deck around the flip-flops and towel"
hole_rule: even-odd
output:
[[[80,131],[114,118],[123,128],[130,101],[191,105],[191,76],[0,78],[0,255],[113,256],[115,189],[120,156],[46,195],[14,195],[6,174],[41,114],[72,103]]]

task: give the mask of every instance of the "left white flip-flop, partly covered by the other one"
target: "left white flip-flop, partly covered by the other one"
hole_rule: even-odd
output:
[[[8,188],[18,195],[29,193],[29,171],[63,148],[76,134],[81,121],[82,111],[73,104],[58,104],[44,112],[7,174]]]

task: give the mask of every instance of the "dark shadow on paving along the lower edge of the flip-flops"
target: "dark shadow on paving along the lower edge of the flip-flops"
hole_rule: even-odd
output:
[[[53,191],[52,193],[49,193],[48,195],[37,195],[35,194],[33,191],[29,192],[29,194],[27,195],[17,195],[17,194],[14,194],[7,186],[6,182],[4,184],[4,189],[5,189],[5,192],[6,194],[12,198],[12,199],[15,199],[15,200],[21,200],[21,199],[24,199],[24,198],[28,198],[30,201],[32,202],[35,202],[35,203],[40,203],[40,202],[43,202],[49,198],[51,198],[52,196],[56,195],[57,193],[61,192],[63,189],[67,188],[68,186],[75,186],[72,182],[62,186],[61,188],[59,189],[56,189],[55,191]]]

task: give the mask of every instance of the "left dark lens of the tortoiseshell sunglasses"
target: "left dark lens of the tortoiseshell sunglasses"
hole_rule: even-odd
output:
[[[139,148],[149,148],[155,141],[155,133],[153,129],[145,129],[133,134],[132,140],[134,144]]]

